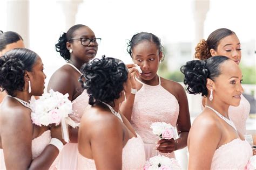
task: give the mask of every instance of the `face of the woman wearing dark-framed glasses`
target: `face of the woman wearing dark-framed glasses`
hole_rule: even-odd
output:
[[[89,39],[96,38],[95,34],[89,27],[83,26],[83,27],[80,27],[79,29],[77,29],[73,33],[72,38],[78,38],[78,39],[71,40],[70,42],[67,42],[66,47],[68,49],[72,49],[72,51],[73,51],[71,53],[71,58],[76,58],[77,60],[80,60],[83,63],[86,63],[86,62],[90,61],[91,59],[95,58],[97,51],[98,51],[98,44],[90,42],[89,45],[83,46],[79,39],[82,37],[89,38]]]

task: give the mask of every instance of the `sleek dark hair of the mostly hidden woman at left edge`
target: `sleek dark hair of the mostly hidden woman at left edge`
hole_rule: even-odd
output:
[[[23,40],[18,33],[13,31],[2,32],[0,31],[0,51],[2,51],[6,45],[12,44],[19,40]]]

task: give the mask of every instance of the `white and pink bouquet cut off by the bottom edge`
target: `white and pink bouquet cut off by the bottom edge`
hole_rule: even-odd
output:
[[[143,170],[172,170],[172,169],[181,169],[178,161],[174,158],[168,158],[164,155],[157,155],[151,157],[149,161],[146,161],[146,164],[143,167]]]

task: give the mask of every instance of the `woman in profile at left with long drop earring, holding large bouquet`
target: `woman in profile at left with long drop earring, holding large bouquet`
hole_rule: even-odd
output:
[[[48,169],[63,147],[60,127],[31,121],[29,100],[43,94],[43,69],[41,58],[26,48],[0,58],[0,87],[7,93],[0,106],[1,169]]]

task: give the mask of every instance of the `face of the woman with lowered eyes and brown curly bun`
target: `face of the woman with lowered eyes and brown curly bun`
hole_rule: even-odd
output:
[[[211,55],[224,55],[239,64],[241,60],[241,44],[235,34],[231,34],[219,41],[217,50],[211,49]]]

